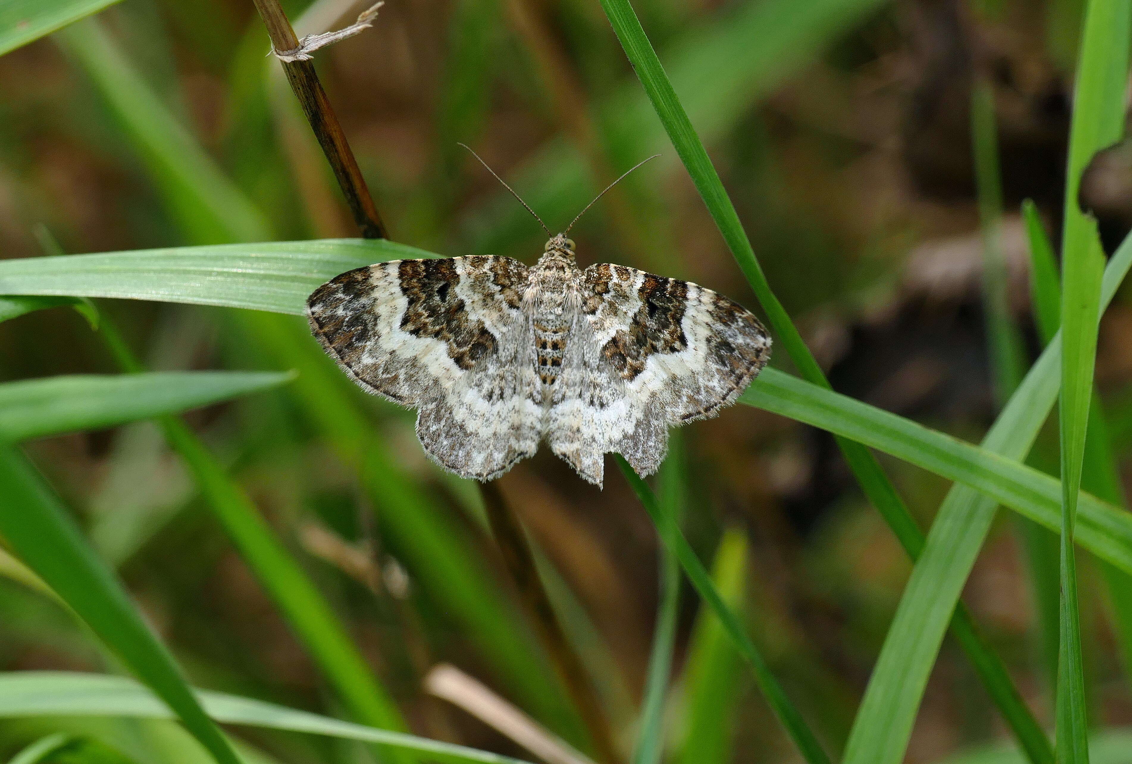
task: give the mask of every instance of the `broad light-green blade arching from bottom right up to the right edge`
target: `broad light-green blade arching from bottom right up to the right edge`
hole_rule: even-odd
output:
[[[1126,239],[1105,269],[1101,306],[1112,302],[1130,267],[1132,239]],[[1060,366],[1058,335],[1030,368],[987,432],[983,440],[986,452],[1012,460],[1026,456],[1057,397]],[[844,764],[894,764],[903,756],[944,629],[990,530],[997,505],[996,499],[968,486],[953,486],[947,492],[873,669],[849,736]],[[1060,513],[1057,524],[1052,527],[1060,527]],[[1078,538],[1080,534],[1078,527]]]

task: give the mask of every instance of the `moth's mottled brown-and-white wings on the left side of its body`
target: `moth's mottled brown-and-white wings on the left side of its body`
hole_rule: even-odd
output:
[[[323,284],[307,315],[354,381],[420,410],[417,436],[434,460],[490,480],[541,436],[526,284],[526,266],[506,257],[391,260]]]

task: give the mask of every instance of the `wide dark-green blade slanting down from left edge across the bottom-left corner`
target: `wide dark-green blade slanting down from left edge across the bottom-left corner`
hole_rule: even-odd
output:
[[[23,454],[3,444],[0,496],[0,535],[16,555],[169,704],[218,764],[239,764],[231,744],[205,714],[169,651],[86,546],[59,498]]]

